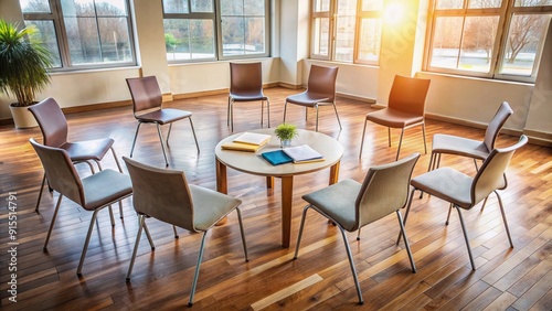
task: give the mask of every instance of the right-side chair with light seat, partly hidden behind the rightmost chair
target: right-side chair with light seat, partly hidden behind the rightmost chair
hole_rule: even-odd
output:
[[[502,129],[502,126],[512,114],[513,110],[510,108],[510,105],[503,101],[487,127],[484,141],[452,135],[434,135],[432,158],[429,159],[427,171],[439,167],[443,153],[471,158],[477,169],[477,160],[485,160],[489,157],[490,151],[495,149],[495,142],[500,129]]]

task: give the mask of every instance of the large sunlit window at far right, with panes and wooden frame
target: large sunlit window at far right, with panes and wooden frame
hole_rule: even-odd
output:
[[[534,82],[552,0],[434,0],[426,69]]]

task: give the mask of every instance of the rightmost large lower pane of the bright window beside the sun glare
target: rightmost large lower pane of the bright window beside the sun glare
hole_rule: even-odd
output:
[[[360,24],[359,60],[376,63],[380,58],[381,19],[362,19]]]

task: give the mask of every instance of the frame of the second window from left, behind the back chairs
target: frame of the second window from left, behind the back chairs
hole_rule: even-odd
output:
[[[163,1],[163,0],[161,0]],[[191,0],[187,0],[189,3],[189,8],[191,8]],[[213,19],[213,28],[214,28],[214,57],[205,57],[205,58],[190,58],[190,60],[168,60],[169,64],[188,64],[188,63],[203,63],[203,62],[216,62],[216,61],[232,61],[232,60],[247,60],[247,58],[259,58],[259,57],[269,57],[270,56],[270,18],[272,18],[272,9],[270,1],[263,0],[265,7],[265,23],[264,23],[264,44],[265,52],[264,53],[254,53],[254,54],[241,54],[241,55],[230,55],[224,56],[223,51],[223,37],[222,37],[222,9],[220,0],[213,1],[213,12],[190,12],[190,13],[164,13],[163,7],[163,21],[166,19]],[[246,17],[246,15],[242,15]],[[163,28],[164,33],[164,28]]]

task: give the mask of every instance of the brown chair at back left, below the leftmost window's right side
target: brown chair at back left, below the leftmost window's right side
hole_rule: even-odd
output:
[[[162,94],[161,94],[161,89],[159,88],[159,84],[157,83],[156,76],[127,78],[126,81],[127,81],[128,89],[130,92],[130,96],[132,97],[132,114],[134,114],[135,118],[138,120],[138,125],[136,127],[136,132],[135,132],[135,138],[132,140],[132,147],[130,148],[130,158],[132,158],[132,153],[134,153],[135,146],[136,146],[136,140],[138,138],[138,131],[140,130],[140,126],[142,124],[155,124],[157,127],[157,133],[159,136],[159,142],[161,143],[161,150],[163,151],[164,164],[166,164],[166,167],[169,167],[169,160],[167,159],[167,151],[166,151],[164,144],[167,144],[167,147],[169,147],[169,137],[171,135],[172,124],[178,121],[178,120],[185,119],[185,118],[188,118],[190,120],[190,127],[192,128],[193,140],[195,141],[195,148],[198,149],[198,153],[200,153],[200,146],[198,143],[198,138],[195,137],[195,129],[193,128],[191,112],[187,117],[182,117],[182,118],[179,118],[179,119],[176,119],[176,120],[168,122],[169,124],[169,131],[167,133],[166,143],[163,143],[163,136],[161,133],[161,127],[160,127],[161,125],[164,125],[164,124],[160,122],[159,120],[144,119],[144,118],[141,118],[142,115],[138,114],[139,111],[142,111],[142,110],[161,111],[163,109],[172,109],[172,108],[162,108]],[[149,108],[147,108],[147,109],[140,109],[137,111],[136,106],[137,106],[137,100],[139,98],[137,98],[137,96],[136,96],[137,90],[132,90],[132,88],[135,87],[135,86],[132,86],[132,84],[135,82],[140,82],[142,84],[141,86],[144,88],[147,88],[146,92],[151,93],[151,94],[149,94],[148,100],[150,103],[148,103]],[[155,84],[153,84],[153,82],[155,82]],[[181,110],[181,109],[174,109],[174,110],[189,112],[189,111]]]

